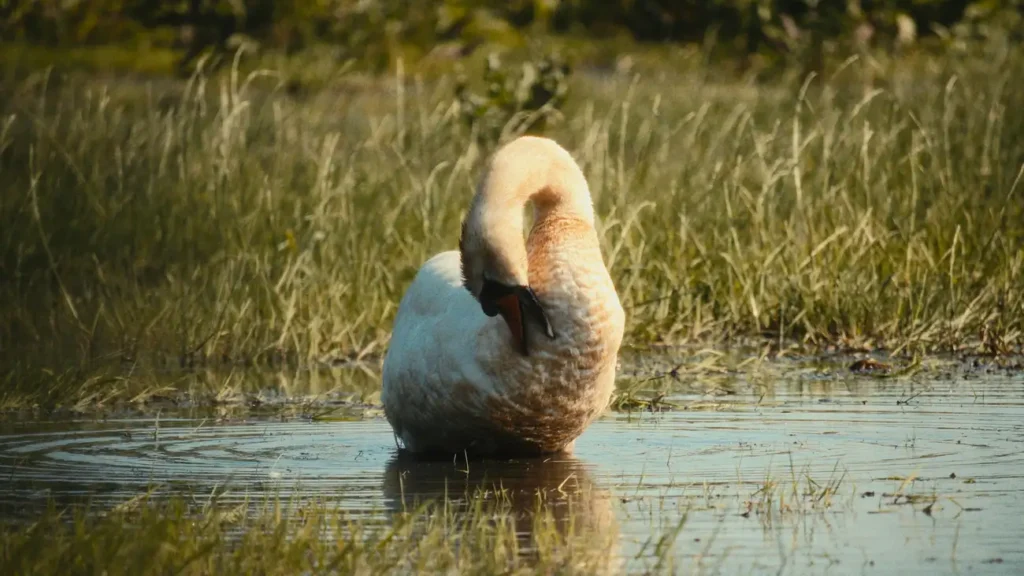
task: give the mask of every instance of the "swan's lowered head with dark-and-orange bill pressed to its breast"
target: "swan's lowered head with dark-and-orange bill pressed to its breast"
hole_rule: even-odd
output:
[[[462,225],[463,284],[480,302],[483,314],[501,315],[512,333],[516,348],[529,356],[526,324],[532,323],[549,337],[555,333],[529,287],[526,249],[522,240],[522,207],[517,216],[489,218],[481,205],[474,205]],[[487,223],[490,225],[487,225]]]

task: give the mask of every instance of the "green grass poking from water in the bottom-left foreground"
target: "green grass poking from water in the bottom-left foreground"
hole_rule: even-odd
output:
[[[614,572],[607,526],[558,522],[540,501],[529,517],[480,495],[469,506],[429,502],[389,523],[326,501],[223,507],[141,498],[99,515],[51,507],[30,524],[0,523],[0,566],[6,574]]]

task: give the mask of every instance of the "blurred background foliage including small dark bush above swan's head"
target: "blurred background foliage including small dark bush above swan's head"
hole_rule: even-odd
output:
[[[293,94],[353,71],[454,70],[456,109],[490,143],[560,119],[569,63],[792,80],[859,55],[873,85],[912,52],[998,61],[1022,37],[1024,0],[0,0],[8,81],[51,67],[189,76],[240,49]]]

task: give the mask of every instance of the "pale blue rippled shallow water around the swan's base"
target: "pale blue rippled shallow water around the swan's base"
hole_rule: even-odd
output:
[[[599,420],[571,458],[468,472],[396,458],[380,417],[8,422],[0,500],[29,513],[147,488],[291,492],[383,523],[402,498],[500,483],[577,494],[563,513],[599,519],[627,570],[662,557],[687,573],[1024,573],[1021,375],[682,387],[677,410]]]

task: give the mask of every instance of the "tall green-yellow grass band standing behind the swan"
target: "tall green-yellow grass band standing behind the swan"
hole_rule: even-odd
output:
[[[627,344],[1002,354],[1024,336],[1024,58],[757,84],[581,73]],[[373,358],[489,152],[452,83],[40,73],[0,92],[5,366]]]

